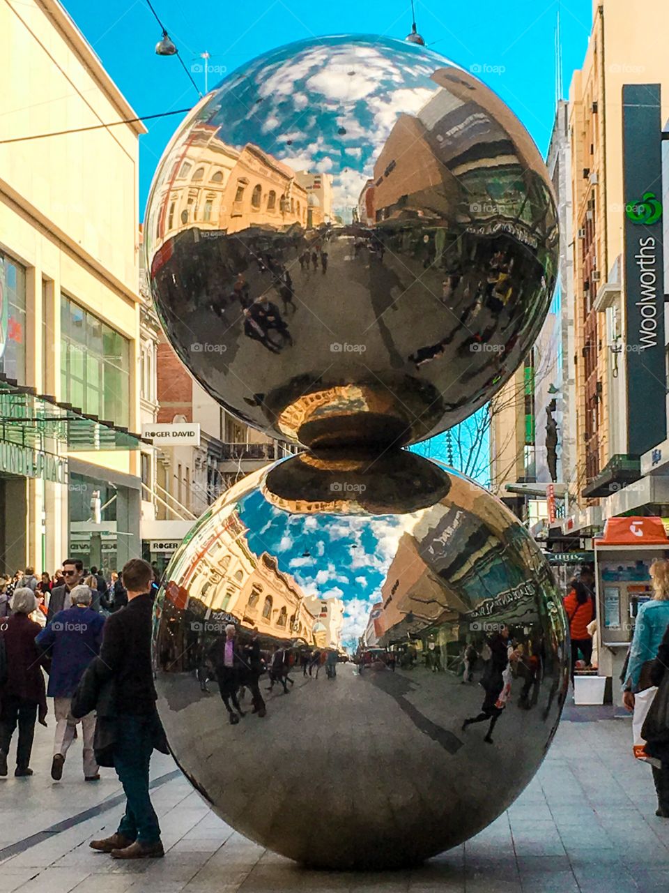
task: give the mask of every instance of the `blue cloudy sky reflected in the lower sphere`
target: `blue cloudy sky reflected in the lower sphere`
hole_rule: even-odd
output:
[[[252,552],[277,558],[306,595],[343,600],[343,645],[355,647],[367,627],[404,530],[402,515],[289,514],[254,490],[237,505]]]

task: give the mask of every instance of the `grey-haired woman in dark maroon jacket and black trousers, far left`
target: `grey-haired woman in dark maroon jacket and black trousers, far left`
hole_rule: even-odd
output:
[[[29,587],[14,589],[12,616],[0,620],[4,640],[7,675],[0,686],[0,775],[7,774],[7,755],[12,735],[19,726],[14,775],[32,775],[29,767],[35,721],[46,725],[46,692],[41,664],[45,657],[35,644],[41,630],[29,618],[37,607],[35,593]]]

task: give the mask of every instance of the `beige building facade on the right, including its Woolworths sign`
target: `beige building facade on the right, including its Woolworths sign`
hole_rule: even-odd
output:
[[[666,224],[665,216],[641,220],[639,213],[642,201],[651,203],[648,213],[653,203],[661,213],[664,197],[660,131],[669,119],[663,39],[669,8],[649,0],[643,19],[652,27],[631,28],[628,4],[594,4],[588,49],[569,94],[575,430],[563,529],[585,536],[614,515],[665,514],[669,505],[661,281]],[[655,120],[635,125],[643,106],[652,107]],[[635,185],[639,177],[642,185]],[[640,195],[632,195],[635,189]],[[657,271],[638,247],[641,237],[654,246]],[[644,292],[651,276],[652,287]],[[650,342],[644,338],[647,312]]]

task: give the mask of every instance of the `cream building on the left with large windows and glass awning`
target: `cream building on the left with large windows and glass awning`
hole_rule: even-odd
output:
[[[57,0],[7,0],[0,46],[0,570],[111,569],[140,554],[145,128],[77,131],[136,113]]]

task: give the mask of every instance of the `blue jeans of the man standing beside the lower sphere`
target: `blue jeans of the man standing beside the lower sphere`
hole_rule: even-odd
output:
[[[158,816],[149,797],[154,732],[153,717],[121,715],[114,744],[114,769],[128,801],[117,833],[144,844],[157,843],[161,839]]]

